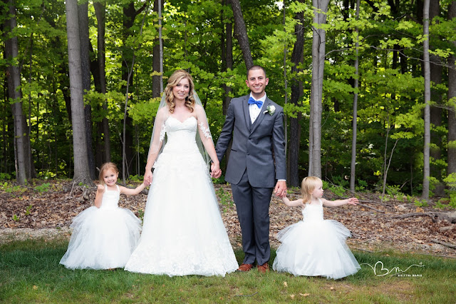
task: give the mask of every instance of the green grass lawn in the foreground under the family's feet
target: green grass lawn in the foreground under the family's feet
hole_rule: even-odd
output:
[[[456,260],[430,255],[353,252],[360,264],[375,265],[380,260],[388,270],[424,265],[413,266],[403,273],[405,276],[376,276],[371,267],[361,265],[356,275],[342,280],[294,277],[274,271],[263,275],[257,270],[230,273],[224,278],[197,275],[169,278],[121,269],[68,270],[58,264],[66,245],[65,240],[27,240],[0,245],[0,302],[456,302]],[[242,252],[236,254],[237,259],[242,260]]]

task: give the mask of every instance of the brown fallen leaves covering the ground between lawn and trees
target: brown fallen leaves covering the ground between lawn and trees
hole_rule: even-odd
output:
[[[39,181],[35,181],[39,183]],[[0,228],[66,228],[78,213],[93,206],[95,188],[83,190],[82,187],[73,188],[72,197],[69,197],[71,181],[46,181],[51,183],[50,190],[38,193],[33,187],[26,188],[24,193],[6,193],[0,191]],[[70,185],[70,186],[68,186]],[[135,186],[135,185],[131,185]],[[216,193],[219,188],[231,196],[231,188],[227,185],[215,185]],[[68,190],[63,190],[68,189]],[[385,213],[375,213],[369,208],[361,206],[342,206],[339,208],[324,208],[326,219],[335,219],[343,223],[352,232],[352,238],[347,243],[351,248],[376,250],[385,248],[385,244],[399,250],[425,251],[443,255],[456,256],[456,250],[441,243],[456,243],[456,223],[448,221],[432,221],[429,216],[409,218],[394,218],[410,211],[429,213],[435,211],[432,203],[427,207],[416,207],[413,203],[390,199],[383,203],[375,203],[378,197],[375,193],[357,193],[363,204],[373,206]],[[299,190],[289,193],[290,198],[299,198]],[[336,199],[332,193],[326,192],[325,198]],[[138,196],[120,196],[119,206],[128,208],[136,216],[145,211],[147,196],[143,193]],[[30,208],[29,206],[32,206]],[[403,206],[398,207],[398,206]],[[241,228],[234,204],[222,205],[222,219],[227,228],[229,239],[234,248],[242,247]],[[438,210],[442,212],[441,210]],[[19,217],[14,221],[13,216]],[[276,239],[279,230],[302,220],[300,208],[289,208],[275,196],[271,199],[269,208],[271,247],[277,248],[280,243]],[[28,232],[27,232],[28,233]],[[68,233],[67,233],[68,234]],[[432,240],[438,240],[435,243]]]

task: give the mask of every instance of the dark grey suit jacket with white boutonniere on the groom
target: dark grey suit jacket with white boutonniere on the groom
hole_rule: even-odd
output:
[[[222,160],[233,138],[225,181],[237,184],[247,169],[249,183],[257,188],[274,188],[276,180],[286,179],[284,108],[267,98],[252,124],[249,96],[233,98],[215,150]],[[274,114],[264,113],[275,106]],[[273,156],[274,153],[274,156]]]

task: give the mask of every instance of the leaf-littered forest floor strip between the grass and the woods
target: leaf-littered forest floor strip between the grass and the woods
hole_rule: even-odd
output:
[[[93,206],[95,187],[74,186],[71,181],[33,181],[33,186],[0,184],[0,244],[27,238],[68,238],[74,216]],[[44,185],[44,186],[43,186]],[[135,185],[132,185],[134,187]],[[236,206],[232,203],[231,188],[215,185],[219,206],[234,248],[241,248],[241,230]],[[356,193],[358,206],[325,208],[324,217],[343,223],[352,232],[347,240],[355,250],[425,253],[456,258],[456,223],[442,219],[456,216],[455,209],[417,207],[406,198],[392,198],[380,202],[378,193]],[[299,190],[289,191],[289,198],[299,197]],[[337,199],[325,191],[328,200]],[[145,191],[138,196],[121,196],[119,206],[128,208],[141,217],[145,210]],[[284,206],[273,197],[271,216],[271,247],[277,248],[276,233],[302,219],[299,208]],[[399,216],[403,216],[400,218]],[[453,221],[454,222],[454,221]],[[312,233],[309,231],[309,233]]]

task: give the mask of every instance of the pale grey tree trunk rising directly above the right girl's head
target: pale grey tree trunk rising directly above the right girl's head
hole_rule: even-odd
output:
[[[326,32],[319,25],[326,24],[329,0],[313,0],[314,24],[312,39],[311,113],[309,123],[309,176],[321,178],[321,112]],[[321,11],[321,13],[318,13]]]

